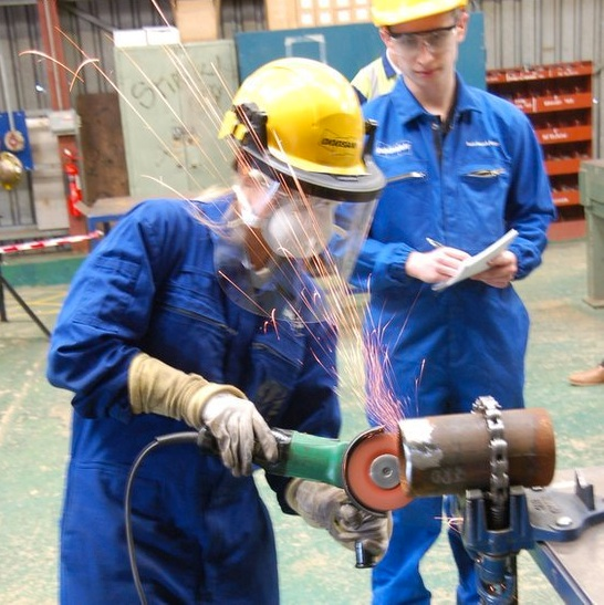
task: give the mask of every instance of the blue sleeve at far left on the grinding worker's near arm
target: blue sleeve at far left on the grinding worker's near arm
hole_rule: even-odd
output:
[[[51,337],[46,376],[74,393],[72,404],[85,418],[131,417],[128,367],[147,328],[156,284],[176,262],[175,242],[186,237],[183,211],[171,200],[139,205],[72,281]]]

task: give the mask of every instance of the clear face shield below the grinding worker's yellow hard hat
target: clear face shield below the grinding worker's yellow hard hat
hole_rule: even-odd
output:
[[[373,201],[335,201],[250,169],[215,239],[221,286],[271,320],[337,322]]]

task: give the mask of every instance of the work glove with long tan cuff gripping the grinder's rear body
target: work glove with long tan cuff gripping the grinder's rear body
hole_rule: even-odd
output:
[[[207,425],[235,477],[251,474],[254,447],[269,462],[277,460],[273,434],[235,386],[210,383],[138,353],[128,369],[128,395],[134,414],[168,416],[197,430]]]

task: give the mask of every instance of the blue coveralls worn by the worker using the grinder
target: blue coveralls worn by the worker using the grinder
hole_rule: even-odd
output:
[[[74,278],[52,335],[48,377],[74,392],[61,522],[65,605],[138,603],[124,533],[126,478],[155,437],[191,430],[131,413],[127,372],[138,352],[236,385],[271,426],[325,437],[340,430],[333,327],[274,325],[232,303],[215,274],[210,230],[190,204],[148,200],[124,217]],[[283,499],[288,479],[268,481],[293,513]],[[132,517],[149,603],[279,602],[268,511],[253,479],[233,478],[218,457],[187,445],[150,453],[136,474]]]

